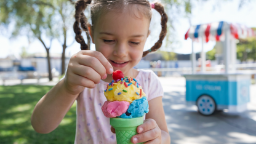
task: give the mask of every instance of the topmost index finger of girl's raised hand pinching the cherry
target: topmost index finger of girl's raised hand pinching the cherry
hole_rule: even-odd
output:
[[[104,55],[101,52],[92,50],[81,50],[81,53],[83,55],[90,55],[91,57],[97,58],[100,61],[100,63],[102,63],[102,65],[105,67],[105,70],[108,74],[113,73],[112,65],[110,64],[110,62],[108,62],[108,60],[104,57]]]

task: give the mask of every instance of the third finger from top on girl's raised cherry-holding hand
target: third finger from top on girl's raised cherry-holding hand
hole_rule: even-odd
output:
[[[79,76],[82,76],[84,78],[90,79],[95,84],[98,84],[98,82],[100,82],[100,78],[101,78],[100,74],[98,74],[93,68],[90,68],[89,66],[84,66],[84,65],[74,66],[73,73]]]

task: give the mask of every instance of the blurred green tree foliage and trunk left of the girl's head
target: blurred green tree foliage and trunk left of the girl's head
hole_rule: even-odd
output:
[[[63,49],[66,49],[66,33],[72,28],[73,12],[73,2],[67,0],[2,0],[0,25],[8,27],[12,22],[15,24],[12,37],[26,35],[30,41],[33,39],[41,41],[47,52],[51,81],[49,49],[52,39],[57,38],[62,43]],[[65,50],[63,53],[65,55]],[[64,61],[65,57],[62,60]]]

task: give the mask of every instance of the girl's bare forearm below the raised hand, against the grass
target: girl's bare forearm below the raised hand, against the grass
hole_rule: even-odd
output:
[[[47,134],[56,129],[78,97],[66,92],[63,82],[64,79],[36,104],[31,116],[31,124],[36,132]]]

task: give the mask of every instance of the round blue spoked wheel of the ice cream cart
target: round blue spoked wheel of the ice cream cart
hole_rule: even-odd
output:
[[[216,111],[216,103],[209,95],[201,95],[196,101],[198,112],[204,116],[210,116]]]

